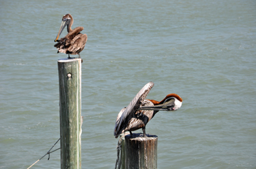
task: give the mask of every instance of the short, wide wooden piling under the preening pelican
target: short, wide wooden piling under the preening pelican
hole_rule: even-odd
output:
[[[157,168],[158,136],[147,136],[144,138],[143,134],[136,133],[125,136],[122,142],[122,169]]]

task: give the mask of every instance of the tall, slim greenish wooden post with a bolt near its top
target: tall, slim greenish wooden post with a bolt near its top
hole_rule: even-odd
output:
[[[61,168],[81,168],[81,58],[58,60]]]

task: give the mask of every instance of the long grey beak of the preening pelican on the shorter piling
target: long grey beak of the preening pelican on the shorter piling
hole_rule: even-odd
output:
[[[179,107],[180,108],[180,107]],[[155,105],[155,106],[142,106],[137,110],[149,110],[149,111],[175,111],[175,100],[171,99],[163,104]]]

